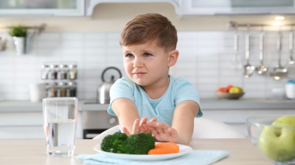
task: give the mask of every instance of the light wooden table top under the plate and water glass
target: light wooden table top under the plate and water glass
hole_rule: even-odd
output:
[[[79,154],[96,154],[93,146],[99,140],[76,140],[71,158],[49,157],[45,140],[0,141],[0,165],[83,165],[75,159]],[[189,144],[193,149],[226,150],[230,156],[213,165],[272,165],[257,151],[249,139],[195,139]]]

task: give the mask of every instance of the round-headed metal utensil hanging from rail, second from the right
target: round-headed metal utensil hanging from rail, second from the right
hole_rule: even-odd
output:
[[[281,49],[282,49],[282,32],[279,30],[277,37],[277,50],[278,50],[278,66],[273,69],[270,73],[272,78],[275,80],[280,80],[287,77],[288,70],[281,66]]]

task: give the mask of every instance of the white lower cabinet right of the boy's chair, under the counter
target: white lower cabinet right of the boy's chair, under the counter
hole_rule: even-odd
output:
[[[246,127],[246,118],[256,115],[295,115],[294,109],[287,110],[265,110],[265,109],[239,109],[239,110],[220,110],[220,109],[207,109],[202,110],[205,118],[221,121],[236,128],[239,132],[248,136]]]

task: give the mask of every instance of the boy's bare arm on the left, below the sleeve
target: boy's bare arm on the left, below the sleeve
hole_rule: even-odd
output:
[[[128,98],[117,98],[111,106],[118,117],[120,127],[126,127],[129,132],[132,132],[135,119],[139,119],[135,103]]]

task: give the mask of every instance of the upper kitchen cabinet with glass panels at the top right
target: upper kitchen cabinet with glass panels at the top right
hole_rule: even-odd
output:
[[[295,14],[295,0],[181,0],[177,14]]]

